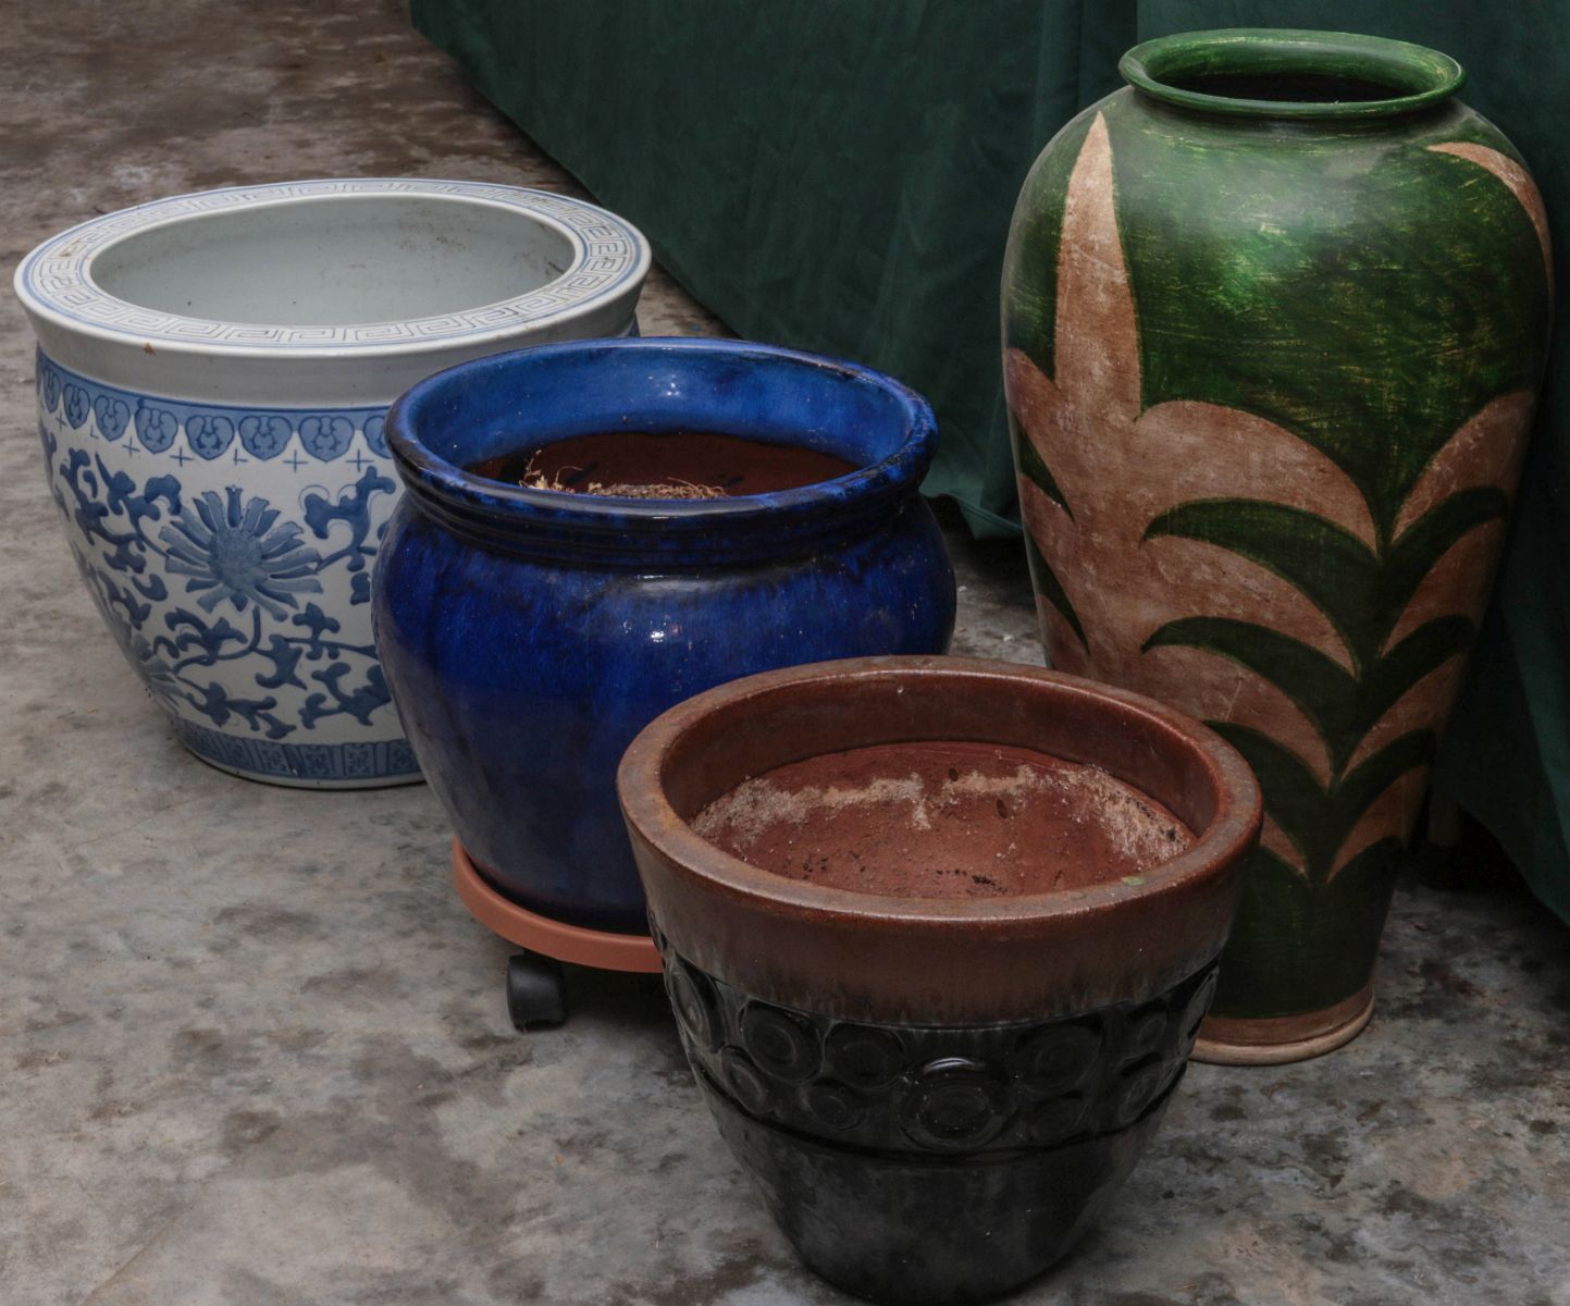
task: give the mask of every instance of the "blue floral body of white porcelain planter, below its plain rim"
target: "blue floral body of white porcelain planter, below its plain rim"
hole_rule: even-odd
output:
[[[308,471],[347,463],[372,421],[363,452],[385,449],[380,410],[196,405],[102,386],[42,356],[38,402],[77,567],[195,752],[290,780],[414,774],[369,629],[344,620],[371,596],[397,485],[374,457],[341,463],[325,483]],[[272,465],[283,493],[214,483],[226,477],[218,455],[250,461],[242,447]],[[345,722],[392,738],[333,739]]]

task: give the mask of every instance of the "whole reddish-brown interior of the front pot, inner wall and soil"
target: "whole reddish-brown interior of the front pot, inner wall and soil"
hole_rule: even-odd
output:
[[[677,736],[666,797],[787,879],[917,898],[1138,882],[1215,821],[1171,720],[1025,677],[860,675],[732,699]]]

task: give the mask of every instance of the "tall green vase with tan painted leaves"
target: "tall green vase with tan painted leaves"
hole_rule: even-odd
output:
[[[1207,720],[1265,826],[1196,1056],[1369,1017],[1394,876],[1504,538],[1548,228],[1444,55],[1152,41],[1025,182],[1003,273],[1053,666]]]

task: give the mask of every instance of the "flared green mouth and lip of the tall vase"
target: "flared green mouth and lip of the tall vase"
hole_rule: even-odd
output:
[[[1449,55],[1407,41],[1243,27],[1146,41],[1118,71],[1130,86],[1181,108],[1295,119],[1416,113],[1466,80]]]

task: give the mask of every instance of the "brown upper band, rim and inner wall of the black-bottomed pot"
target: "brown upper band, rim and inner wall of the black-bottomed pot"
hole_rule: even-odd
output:
[[[689,824],[774,766],[918,739],[1099,764],[1198,838],[1140,876],[959,899],[785,879]],[[1192,717],[1061,672],[967,658],[854,658],[710,689],[633,741],[617,786],[652,917],[680,956],[787,1006],[917,1023],[1041,1019],[1165,992],[1225,943],[1261,823],[1248,764]]]

